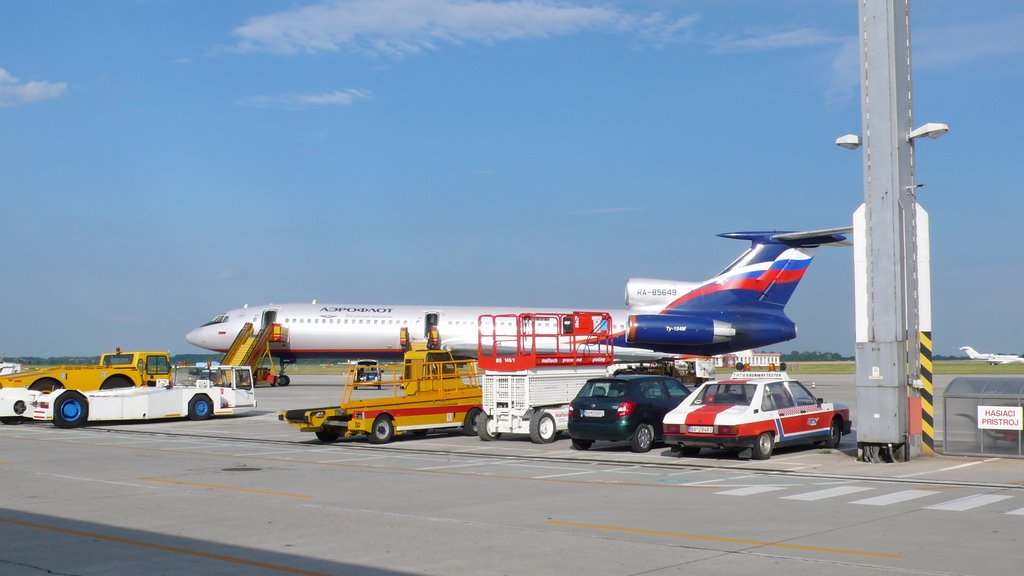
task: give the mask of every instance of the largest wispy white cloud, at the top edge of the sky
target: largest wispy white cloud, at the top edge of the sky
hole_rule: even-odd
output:
[[[249,18],[233,31],[241,51],[352,50],[393,57],[463,42],[493,43],[585,31],[632,33],[656,43],[681,37],[696,20],[662,13],[547,0],[330,0]]]

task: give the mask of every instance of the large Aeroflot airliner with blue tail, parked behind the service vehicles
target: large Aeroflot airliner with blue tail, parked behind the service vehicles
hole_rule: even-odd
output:
[[[724,271],[703,282],[629,279],[629,310],[611,316],[616,362],[643,362],[678,355],[715,356],[752,349],[797,336],[785,304],[818,247],[849,243],[851,229],[809,232],[734,232],[722,238],[751,246]],[[199,347],[226,352],[247,322],[256,330],[280,323],[287,341],[271,342],[270,354],[286,364],[298,358],[400,359],[399,333],[413,342],[431,333],[454,356],[476,358],[481,315],[566,314],[574,311],[494,306],[399,304],[267,304],[217,315],[185,339]],[[284,380],[287,382],[287,380]]]

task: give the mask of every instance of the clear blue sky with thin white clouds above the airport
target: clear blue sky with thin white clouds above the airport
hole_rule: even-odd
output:
[[[621,308],[862,202],[853,0],[7,1],[0,356],[245,303]],[[937,354],[1024,352],[1024,4],[911,4]],[[849,248],[774,349],[852,354]]]

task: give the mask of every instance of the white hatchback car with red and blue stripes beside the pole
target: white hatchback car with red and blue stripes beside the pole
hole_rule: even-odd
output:
[[[693,390],[663,426],[665,442],[684,456],[716,448],[764,460],[776,446],[836,448],[851,422],[849,408],[815,398],[785,372],[736,372]]]

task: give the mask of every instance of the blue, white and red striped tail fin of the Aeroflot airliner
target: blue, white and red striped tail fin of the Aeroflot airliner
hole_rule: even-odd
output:
[[[819,246],[849,243],[849,228],[809,232],[732,232],[722,238],[749,240],[751,247],[724,271],[669,304],[665,312],[775,307],[790,301]]]

